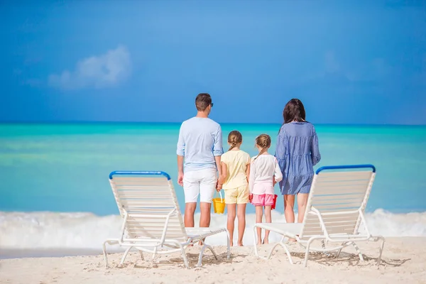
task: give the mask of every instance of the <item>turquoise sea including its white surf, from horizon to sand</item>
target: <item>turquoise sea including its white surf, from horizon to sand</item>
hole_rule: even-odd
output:
[[[179,127],[0,124],[0,248],[97,248],[100,239],[115,236],[119,217],[109,173],[163,170],[175,181]],[[373,230],[426,236],[426,126],[315,127],[322,155],[315,168],[376,165],[367,207]],[[227,134],[236,129],[243,134],[242,150],[256,155],[254,138],[268,133],[274,153],[279,128],[279,124],[222,124],[224,149]],[[182,187],[175,182],[175,189],[182,209]],[[254,207],[247,208],[249,218]],[[280,199],[275,219],[283,219],[282,213]],[[212,222],[222,224],[224,218],[215,215]],[[87,234],[89,228],[92,234]]]

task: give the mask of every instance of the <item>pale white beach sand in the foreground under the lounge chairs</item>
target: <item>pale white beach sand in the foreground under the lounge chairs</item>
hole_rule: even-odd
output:
[[[271,245],[262,246],[261,253]],[[293,244],[292,266],[278,247],[269,261],[254,256],[253,247],[217,246],[219,260],[210,252],[203,266],[195,268],[198,249],[188,250],[191,268],[184,267],[178,253],[160,256],[154,263],[142,261],[132,252],[123,267],[118,267],[121,254],[109,255],[108,270],[99,256],[63,258],[15,258],[0,261],[0,283],[426,283],[426,238],[387,238],[381,266],[376,266],[378,243],[359,243],[366,261],[360,262],[355,250],[346,248],[339,258],[314,254],[307,268],[302,267],[302,254]]]

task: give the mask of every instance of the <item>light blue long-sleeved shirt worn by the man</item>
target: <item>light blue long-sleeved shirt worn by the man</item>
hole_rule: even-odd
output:
[[[185,172],[216,168],[214,157],[224,153],[220,125],[202,117],[183,121],[176,153],[185,157]]]

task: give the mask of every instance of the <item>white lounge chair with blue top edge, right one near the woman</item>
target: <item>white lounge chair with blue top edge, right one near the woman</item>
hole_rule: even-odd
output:
[[[339,256],[346,246],[354,246],[361,261],[364,261],[356,242],[381,240],[377,264],[381,262],[381,254],[385,239],[383,236],[372,236],[368,231],[364,210],[376,175],[373,165],[342,165],[319,168],[314,175],[310,195],[302,224],[298,223],[258,223],[253,226],[254,237],[256,227],[280,234],[282,239],[275,244],[268,256],[256,256],[269,259],[276,246],[283,246],[288,260],[293,264],[290,251],[285,245],[285,238],[295,239],[305,249],[304,266],[310,251],[337,251]],[[361,230],[360,230],[361,228]],[[321,246],[312,246],[312,242],[321,241]],[[327,246],[325,242],[327,241]]]

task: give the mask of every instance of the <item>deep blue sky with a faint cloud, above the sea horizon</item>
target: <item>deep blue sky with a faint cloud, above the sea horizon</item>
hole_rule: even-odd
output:
[[[18,2],[18,3],[15,3]],[[425,1],[2,1],[0,121],[426,124]]]

